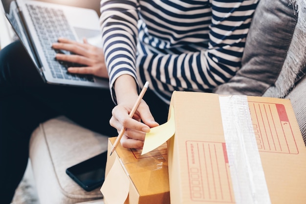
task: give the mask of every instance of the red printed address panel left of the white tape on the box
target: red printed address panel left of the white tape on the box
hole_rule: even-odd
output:
[[[235,203],[225,143],[186,141],[193,201]]]

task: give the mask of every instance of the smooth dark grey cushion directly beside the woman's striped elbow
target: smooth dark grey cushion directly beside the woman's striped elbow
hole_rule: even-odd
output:
[[[261,96],[273,87],[284,66],[296,23],[297,15],[289,0],[260,0],[246,39],[242,67],[214,92]]]

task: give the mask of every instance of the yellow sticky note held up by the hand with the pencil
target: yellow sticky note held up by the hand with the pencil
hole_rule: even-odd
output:
[[[169,120],[157,127],[151,128],[150,133],[146,134],[141,155],[144,155],[153,149],[165,143],[175,134],[175,117],[174,109],[171,107],[171,115]]]

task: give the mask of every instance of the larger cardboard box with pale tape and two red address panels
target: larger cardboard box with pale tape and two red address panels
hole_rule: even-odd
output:
[[[172,204],[306,203],[306,147],[289,100],[175,91],[170,106]]]

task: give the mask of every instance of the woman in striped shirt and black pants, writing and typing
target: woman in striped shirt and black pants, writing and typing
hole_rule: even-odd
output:
[[[166,122],[174,90],[210,91],[230,79],[240,68],[258,0],[228,1],[102,0],[103,50],[86,41],[81,44],[67,39],[59,39],[52,46],[76,53],[56,54],[58,60],[86,65],[69,68],[69,72],[109,77],[110,93],[44,84],[20,42],[2,49],[3,204],[11,202],[22,179],[29,138],[39,123],[66,115],[109,136],[124,126],[122,146],[142,148],[145,133]],[[150,90],[132,119],[129,113],[145,81],[150,82]]]

